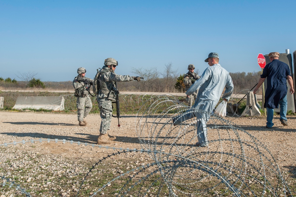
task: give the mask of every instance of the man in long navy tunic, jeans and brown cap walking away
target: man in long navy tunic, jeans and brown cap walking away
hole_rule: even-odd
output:
[[[253,93],[256,94],[258,88],[263,84],[265,78],[267,77],[267,87],[265,91],[265,103],[264,108],[267,111],[266,117],[266,128],[272,129],[274,125],[272,122],[273,119],[273,109],[279,108],[280,104],[280,121],[284,126],[288,126],[287,121],[287,80],[290,85],[290,93],[294,93],[293,79],[291,76],[291,71],[289,66],[279,61],[279,53],[272,52],[268,54],[269,60],[268,63],[260,76],[258,84],[254,89]]]

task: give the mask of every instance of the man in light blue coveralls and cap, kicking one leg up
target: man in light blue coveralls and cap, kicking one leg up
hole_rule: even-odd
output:
[[[222,99],[229,101],[233,92],[232,79],[224,68],[219,64],[218,53],[210,53],[208,58],[204,60],[209,64],[209,67],[204,70],[204,73],[200,76],[199,80],[187,90],[186,95],[192,95],[197,89],[199,89],[196,100],[192,108],[204,110],[206,112],[212,112],[220,100],[223,89],[225,88]],[[199,147],[208,147],[209,142],[207,140],[207,121],[209,120],[209,114],[207,113],[195,113],[197,119],[197,139],[196,143]],[[192,115],[184,117],[185,120],[193,118]],[[183,118],[174,118],[173,124],[177,125],[185,121]]]

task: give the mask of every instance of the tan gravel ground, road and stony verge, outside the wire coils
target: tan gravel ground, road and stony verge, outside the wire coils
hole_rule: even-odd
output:
[[[95,145],[101,121],[98,114],[90,114],[85,119],[88,126],[82,127],[78,126],[76,113],[31,111],[0,111],[0,117],[0,144],[32,139],[65,139]],[[276,115],[273,129],[265,128],[265,118],[229,118],[229,120],[260,140],[276,158],[281,172],[286,172],[284,176],[289,179],[288,182],[295,183],[296,172],[295,169],[291,170],[296,166],[295,116],[288,116],[289,126],[283,126],[279,116]],[[141,145],[135,133],[135,115],[123,116],[120,118],[120,124],[118,128],[117,119],[112,119],[109,134],[117,136],[117,139],[109,146],[140,149]],[[63,144],[60,141],[25,142],[0,146],[0,176],[17,182],[32,196],[75,196],[81,185],[81,178],[87,174],[89,168],[113,152],[114,150],[110,148],[68,142]],[[151,162],[150,158],[140,153],[112,156],[108,161],[112,164],[109,171],[114,174],[122,173],[119,170],[122,167],[132,168]],[[104,170],[106,169],[102,167],[101,171]],[[7,181],[4,180],[5,182]],[[91,183],[85,183],[84,189],[87,190]],[[0,197],[21,196],[19,190],[2,185]],[[295,188],[295,186],[291,187]],[[100,195],[104,196],[104,193]]]

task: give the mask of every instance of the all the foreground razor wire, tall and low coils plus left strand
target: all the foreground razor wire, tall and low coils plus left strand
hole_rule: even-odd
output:
[[[76,196],[103,195],[104,192],[114,196],[292,196],[270,151],[233,122],[190,108],[172,95],[122,97],[126,105],[142,104],[135,118],[141,150],[60,139],[23,140],[0,147],[54,141],[113,150],[108,156],[93,161]],[[177,120],[181,120],[180,124],[174,126]],[[197,125],[201,121],[206,122],[208,147],[196,146]],[[103,180],[93,176],[104,173],[101,165],[109,159],[132,152],[145,154],[152,162],[119,170],[120,175],[105,176]],[[7,177],[5,180],[7,182]],[[90,194],[84,183],[97,184],[98,181],[100,187]],[[111,185],[117,188],[115,193]],[[25,194],[25,190],[21,191]]]

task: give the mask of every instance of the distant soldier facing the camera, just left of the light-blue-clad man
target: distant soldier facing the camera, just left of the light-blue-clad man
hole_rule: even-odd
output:
[[[196,79],[199,79],[199,76],[194,72],[194,69],[195,67],[193,64],[188,65],[188,70],[189,70],[188,73],[191,72],[191,74],[193,74],[196,77]],[[191,87],[191,85],[196,81],[195,79],[193,79],[193,77],[189,76],[188,73],[184,75],[184,80],[183,80],[183,83],[185,84],[185,91],[187,91]],[[189,96],[187,95],[186,100],[188,102],[189,107],[191,107],[193,104],[193,101],[196,100],[197,91],[198,90],[196,90],[192,95],[189,95]]]

